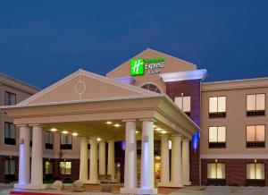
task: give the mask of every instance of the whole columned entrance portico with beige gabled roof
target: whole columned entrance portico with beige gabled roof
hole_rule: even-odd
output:
[[[119,182],[120,170],[121,193],[156,194],[155,184],[190,185],[189,140],[198,126],[163,94],[80,70],[4,111],[20,129],[19,183],[15,188],[46,188],[44,131],[60,135],[55,146],[59,151],[71,148],[72,137],[78,138],[77,172],[84,183]],[[156,140],[160,151],[155,153]],[[114,143],[118,141],[124,148],[123,162],[115,161]],[[52,147],[49,141],[46,144]],[[72,174],[68,161],[59,163],[61,174]],[[51,172],[49,163],[46,172]]]

